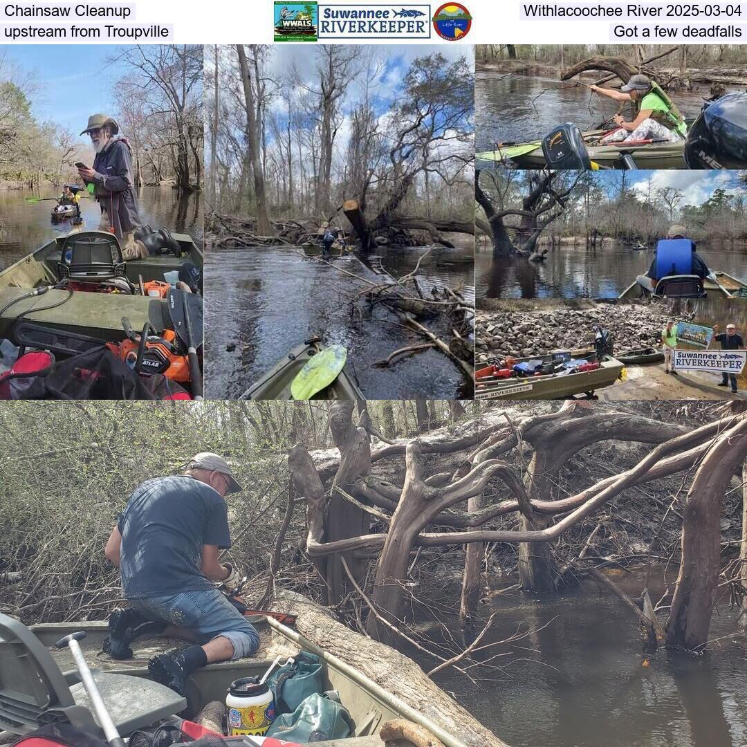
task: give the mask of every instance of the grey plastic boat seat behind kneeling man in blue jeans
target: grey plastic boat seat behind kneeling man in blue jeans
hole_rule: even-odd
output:
[[[97,670],[92,674],[123,737],[187,706],[185,698],[157,682]],[[76,673],[63,675],[28,627],[0,614],[0,728],[28,734],[53,721],[103,734]]]

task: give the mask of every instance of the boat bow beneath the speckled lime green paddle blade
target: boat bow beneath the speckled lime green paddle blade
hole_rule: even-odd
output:
[[[311,356],[320,352],[320,338],[307,340],[297,345],[287,356],[280,359],[270,371],[252,384],[241,400],[291,400],[291,382],[309,362]],[[342,369],[337,378],[326,388],[314,394],[312,400],[362,400],[363,394],[347,370]]]

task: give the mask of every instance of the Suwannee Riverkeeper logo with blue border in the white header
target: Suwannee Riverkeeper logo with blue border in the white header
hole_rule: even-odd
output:
[[[320,39],[430,39],[430,5],[320,3]]]

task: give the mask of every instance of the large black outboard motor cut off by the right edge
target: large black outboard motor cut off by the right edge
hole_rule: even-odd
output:
[[[689,169],[747,168],[747,93],[728,93],[702,109],[687,132]]]

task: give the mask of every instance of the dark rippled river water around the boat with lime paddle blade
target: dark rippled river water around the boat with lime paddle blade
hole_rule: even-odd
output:
[[[412,271],[425,247],[377,250],[394,276]],[[424,341],[403,328],[382,304],[373,317],[361,321],[350,302],[365,284],[333,267],[300,255],[290,247],[215,249],[205,255],[205,360],[207,396],[238,397],[288,353],[291,347],[319,336],[324,344],[348,349],[348,365],[363,394],[371,399],[471,397],[462,369],[435,350],[400,358],[389,368],[372,364],[394,350]],[[335,260],[338,267],[373,282],[381,282],[357,258]],[[459,287],[474,297],[473,250],[433,247],[421,263],[418,282],[424,295],[430,288]],[[360,306],[360,303],[359,303]],[[423,320],[421,320],[422,322]],[[436,334],[447,329],[425,320]],[[234,350],[228,350],[235,345]]]

